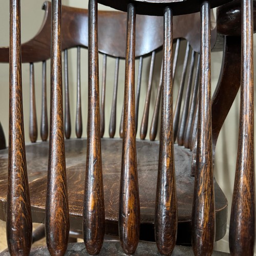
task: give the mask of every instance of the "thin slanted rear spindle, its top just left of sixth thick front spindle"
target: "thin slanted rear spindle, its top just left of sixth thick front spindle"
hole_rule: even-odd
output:
[[[200,72],[200,56],[198,55],[198,61],[197,61],[197,71],[196,71],[196,77],[194,81],[194,88],[193,88],[193,95],[190,101],[189,106],[189,114],[186,122],[186,127],[184,131],[184,146],[186,148],[189,147],[189,136],[190,136],[190,130],[193,123],[193,117],[195,115],[195,112],[197,110],[197,95],[198,95],[198,85],[199,85],[199,72]]]

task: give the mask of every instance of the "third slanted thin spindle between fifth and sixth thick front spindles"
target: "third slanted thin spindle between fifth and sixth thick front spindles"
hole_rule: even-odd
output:
[[[186,96],[185,96],[185,101],[184,101],[184,104],[183,104],[181,121],[180,121],[180,124],[179,124],[179,130],[178,130],[178,136],[177,136],[177,141],[178,141],[179,145],[183,145],[183,142],[184,142],[185,125],[186,125],[186,120],[187,120],[187,116],[188,116],[190,92],[191,92],[192,78],[193,78],[193,73],[194,73],[195,55],[196,55],[196,52],[192,51],[191,60],[190,60],[189,75],[188,75],[188,81],[187,81]]]

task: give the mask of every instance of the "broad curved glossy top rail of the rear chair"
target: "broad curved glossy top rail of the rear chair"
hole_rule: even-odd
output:
[[[45,17],[38,33],[22,44],[22,62],[38,62],[50,58],[51,2],[42,6]],[[126,13],[98,11],[99,51],[110,56],[125,58]],[[175,16],[174,38],[185,38],[191,47],[200,51],[200,13]],[[212,21],[211,46],[216,41],[216,23]],[[110,36],[111,35],[111,36]],[[136,57],[162,47],[163,18],[137,15]],[[88,47],[88,10],[62,6],[62,50]],[[0,48],[0,62],[9,62],[9,47]]]

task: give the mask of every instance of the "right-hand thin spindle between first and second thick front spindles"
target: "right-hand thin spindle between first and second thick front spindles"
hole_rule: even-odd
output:
[[[46,86],[46,61],[42,61],[42,109],[41,109],[41,129],[42,141],[48,138],[48,113],[47,113],[47,86]]]

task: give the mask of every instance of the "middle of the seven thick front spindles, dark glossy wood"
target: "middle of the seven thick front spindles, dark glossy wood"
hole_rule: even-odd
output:
[[[123,146],[119,198],[119,237],[126,254],[139,242],[140,203],[135,129],[135,22],[133,4],[127,7],[127,38],[123,115]]]

